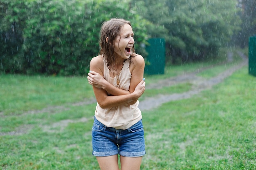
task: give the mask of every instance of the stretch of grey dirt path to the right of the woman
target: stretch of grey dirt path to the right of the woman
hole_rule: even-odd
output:
[[[173,100],[180,100],[180,99],[187,99],[191,97],[192,95],[196,95],[200,93],[201,91],[205,89],[209,89],[212,86],[220,83],[225,79],[226,77],[232,75],[234,71],[242,68],[246,64],[248,64],[248,59],[247,56],[241,53],[240,51],[237,52],[240,57],[243,58],[243,61],[239,63],[238,65],[234,65],[231,68],[227,69],[226,71],[220,73],[216,77],[213,77],[211,79],[202,79],[201,77],[197,77],[196,74],[207,69],[207,68],[202,68],[201,70],[198,70],[194,73],[191,74],[184,74],[184,75],[179,75],[178,77],[171,77],[170,79],[164,79],[162,81],[157,82],[156,84],[150,84],[150,86],[146,88],[162,88],[163,86],[170,86],[175,83],[181,83],[181,82],[190,82],[193,84],[193,88],[191,91],[187,91],[184,93],[178,93],[178,94],[171,94],[171,95],[157,95],[154,97],[148,97],[141,101],[139,103],[139,108],[144,111],[144,110],[150,110],[152,108],[157,108],[161,106],[162,104],[166,102],[170,102]],[[231,53],[228,53],[228,62],[231,62],[232,59]]]

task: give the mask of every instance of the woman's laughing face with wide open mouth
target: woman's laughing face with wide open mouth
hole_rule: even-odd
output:
[[[123,59],[130,57],[131,49],[134,44],[132,27],[124,24],[121,28],[119,36],[114,40],[115,55]]]

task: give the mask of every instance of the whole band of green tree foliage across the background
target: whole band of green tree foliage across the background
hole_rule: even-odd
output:
[[[204,60],[237,31],[236,12],[236,0],[2,0],[0,72],[83,75],[110,18],[132,22],[144,57],[148,38],[165,38],[167,61]]]

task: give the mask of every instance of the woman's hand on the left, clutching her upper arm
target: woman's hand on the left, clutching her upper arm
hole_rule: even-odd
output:
[[[87,76],[88,83],[97,88],[103,88],[106,80],[97,72],[90,71]]]

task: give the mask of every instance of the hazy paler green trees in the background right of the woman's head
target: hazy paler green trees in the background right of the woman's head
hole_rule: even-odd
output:
[[[238,29],[235,0],[132,2],[139,14],[154,24],[148,28],[149,35],[165,38],[166,59],[172,63],[213,56]]]

